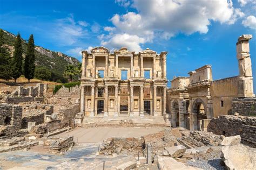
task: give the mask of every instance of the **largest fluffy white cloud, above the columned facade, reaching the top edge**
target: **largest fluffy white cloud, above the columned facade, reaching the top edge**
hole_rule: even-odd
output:
[[[111,18],[114,29],[105,29],[109,35],[103,37],[102,45],[112,48],[125,45],[138,51],[142,44],[156,37],[170,39],[178,33],[207,33],[211,22],[233,24],[244,16],[231,0],[133,0],[129,5],[138,12],[114,15]]]

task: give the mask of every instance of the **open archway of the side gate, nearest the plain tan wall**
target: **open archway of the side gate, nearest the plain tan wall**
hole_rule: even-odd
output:
[[[197,98],[192,105],[193,130],[201,130],[202,119],[207,119],[207,106],[201,98]]]

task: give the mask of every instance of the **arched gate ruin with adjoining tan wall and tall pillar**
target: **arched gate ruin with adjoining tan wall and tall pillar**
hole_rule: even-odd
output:
[[[190,77],[177,77],[171,81],[172,87],[167,90],[168,114],[166,117],[173,127],[181,126],[190,130],[207,130],[211,118],[227,115],[232,107],[235,108],[234,103],[237,100],[240,100],[241,105],[246,106],[247,111],[255,112],[249,53],[249,40],[251,38],[252,35],[242,35],[238,38],[238,76],[213,81],[211,65],[205,65],[188,73]],[[243,99],[245,97],[246,100]],[[248,98],[250,97],[251,102],[248,106]],[[237,107],[237,110],[239,108],[241,110],[241,107]],[[252,111],[252,109],[254,110]],[[234,111],[230,111],[230,113],[232,112],[234,113]]]

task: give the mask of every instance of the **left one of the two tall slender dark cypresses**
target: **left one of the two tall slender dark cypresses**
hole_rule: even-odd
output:
[[[19,33],[16,38],[14,47],[15,47],[15,51],[14,51],[14,57],[12,58],[11,74],[16,83],[16,80],[18,79],[18,77],[22,75],[22,60],[23,60],[22,39]]]

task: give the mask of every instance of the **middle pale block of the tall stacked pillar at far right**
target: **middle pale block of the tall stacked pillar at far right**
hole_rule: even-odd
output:
[[[239,63],[239,76],[252,77],[252,61],[251,58],[245,58],[238,61]]]

